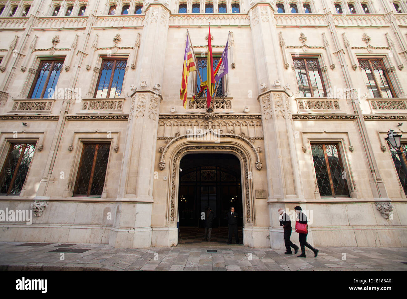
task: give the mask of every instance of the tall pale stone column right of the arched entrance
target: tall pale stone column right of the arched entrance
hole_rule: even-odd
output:
[[[304,201],[289,95],[284,86],[284,61],[274,20],[274,8],[265,2],[252,5],[250,27],[257,71],[267,166],[270,246],[279,249],[283,230],[278,208],[292,209]],[[305,206],[302,206],[305,209]]]

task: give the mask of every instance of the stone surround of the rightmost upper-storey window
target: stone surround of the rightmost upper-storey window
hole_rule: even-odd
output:
[[[393,89],[392,89],[392,91],[394,92],[393,99],[401,98],[400,95],[404,94],[404,90],[403,90],[402,85],[400,85],[400,83],[399,83],[400,79],[399,79],[399,76],[396,73],[397,68],[393,67],[393,65],[391,63],[391,60],[389,59],[388,54],[383,54],[383,53],[380,53],[380,54],[379,53],[377,53],[377,54],[374,54],[374,53],[373,54],[370,54],[370,53],[369,54],[366,54],[366,53],[356,54],[356,61],[357,61],[357,65],[358,65],[357,68],[360,70],[360,68],[359,68],[359,59],[381,59],[382,62],[383,62],[384,68],[386,70],[386,74],[388,76],[388,79],[390,81],[390,84],[393,87]],[[387,70],[389,68],[394,68],[394,71],[388,72]],[[363,78],[361,77],[360,79],[363,82]],[[363,83],[363,92],[361,92],[361,94],[364,94],[365,92],[369,93],[368,89],[364,89],[364,88],[366,88],[366,86]],[[372,98],[372,99],[374,99],[374,98]],[[392,98],[389,98],[389,99],[392,99]]]

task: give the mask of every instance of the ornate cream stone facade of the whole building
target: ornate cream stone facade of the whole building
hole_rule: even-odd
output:
[[[33,210],[33,224],[0,222],[0,240],[174,246],[179,162],[210,152],[241,162],[245,246],[281,249],[277,211],[296,205],[313,213],[315,246],[406,246],[406,196],[383,138],[394,129],[407,140],[407,6],[358,1],[354,14],[339,2],[345,13],[326,0],[241,0],[240,13],[230,0],[227,13],[217,0],[214,13],[204,13],[203,0],[201,13],[189,0],[187,13],[178,13],[178,0],[0,1],[1,163],[11,142],[36,143],[20,195],[0,196],[0,210]],[[292,3],[299,13],[287,13]],[[127,4],[130,13],[118,14]],[[117,13],[108,15],[112,5]],[[208,22],[214,55],[232,32],[225,104],[211,114],[179,99],[186,29],[204,55]],[[109,57],[127,59],[122,92],[94,98]],[[296,57],[317,59],[326,97],[301,96]],[[362,58],[383,59],[394,98],[369,96]],[[63,61],[57,96],[28,98],[44,59]],[[192,74],[188,97],[195,81]],[[73,196],[83,143],[96,141],[111,148],[102,195]],[[338,144],[349,196],[320,195],[315,142]]]

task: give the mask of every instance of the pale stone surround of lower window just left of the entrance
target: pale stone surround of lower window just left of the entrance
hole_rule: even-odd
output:
[[[106,137],[108,134],[111,134],[111,137]],[[97,136],[95,136],[97,135]],[[72,150],[74,151],[73,159],[71,162],[71,167],[70,167],[70,172],[68,176],[68,184],[63,191],[63,197],[64,198],[72,198],[72,199],[77,199],[78,197],[81,197],[83,199],[105,199],[107,197],[107,179],[109,178],[109,170],[110,170],[110,164],[112,163],[112,155],[113,153],[116,153],[116,148],[118,149],[118,141],[119,141],[119,132],[99,132],[99,131],[94,131],[94,132],[74,132],[71,140],[71,145],[66,149],[69,152]],[[79,172],[79,164],[81,163],[81,156],[83,152],[83,146],[85,143],[110,143],[110,149],[109,149],[109,157],[107,158],[107,167],[106,167],[106,174],[105,174],[105,182],[103,183],[103,191],[101,196],[74,196],[74,188],[76,184],[76,179],[78,176]],[[116,144],[116,146],[114,146]],[[64,151],[65,149],[63,149]],[[62,154],[62,151],[60,151]]]

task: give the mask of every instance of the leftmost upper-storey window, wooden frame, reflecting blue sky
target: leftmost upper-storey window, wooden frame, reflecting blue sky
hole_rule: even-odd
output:
[[[43,60],[35,74],[29,98],[52,98],[61,73],[63,60]]]

